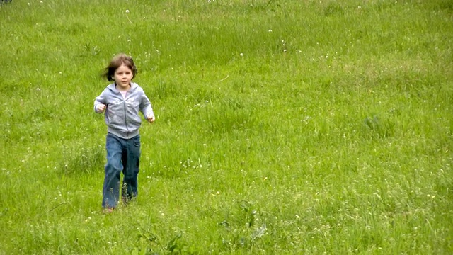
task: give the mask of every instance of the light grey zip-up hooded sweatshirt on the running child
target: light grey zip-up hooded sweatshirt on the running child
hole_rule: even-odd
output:
[[[130,84],[126,97],[115,87],[115,84],[108,85],[101,95],[94,101],[94,111],[99,103],[105,104],[105,124],[108,132],[124,139],[130,139],[139,134],[139,127],[142,124],[139,111],[143,115],[154,115],[151,102],[144,94],[142,87],[136,83]]]

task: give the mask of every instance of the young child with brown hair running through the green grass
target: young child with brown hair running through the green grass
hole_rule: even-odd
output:
[[[106,139],[107,164],[103,186],[102,206],[109,212],[117,207],[120,196],[124,203],[137,196],[137,175],[140,160],[139,127],[141,111],[150,123],[156,119],[143,89],[132,81],[137,74],[132,57],[120,54],[113,57],[105,78],[115,81],[108,85],[94,101],[94,111],[105,113],[108,126]]]

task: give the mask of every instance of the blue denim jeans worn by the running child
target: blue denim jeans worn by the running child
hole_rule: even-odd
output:
[[[122,200],[127,202],[137,196],[140,162],[140,135],[122,139],[108,133],[105,142],[107,164],[103,186],[103,208],[116,208],[120,198],[120,178],[122,179]]]

